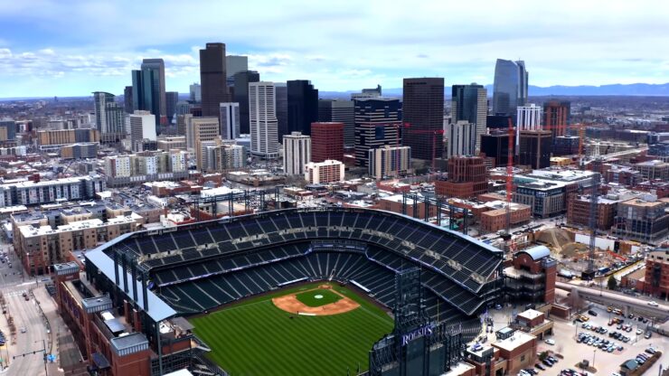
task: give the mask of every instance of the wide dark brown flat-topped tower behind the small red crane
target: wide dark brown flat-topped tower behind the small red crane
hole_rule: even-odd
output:
[[[444,129],[444,79],[404,79],[402,117],[410,127],[403,142],[411,146],[411,157],[426,161],[441,158],[444,135],[436,132]]]

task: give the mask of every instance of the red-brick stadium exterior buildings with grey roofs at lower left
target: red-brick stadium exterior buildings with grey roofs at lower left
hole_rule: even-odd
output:
[[[124,300],[115,304],[108,294],[101,294],[87,279],[80,279],[80,268],[75,262],[56,264],[56,304],[58,312],[74,337],[83,362],[63,364],[66,374],[96,374],[104,376],[149,376],[157,362],[155,341],[145,333],[155,333],[144,328],[148,321],[143,313]],[[193,346],[190,328],[164,322],[161,330],[164,364],[171,355],[184,358],[185,367],[190,363]],[[62,345],[62,344],[61,344]],[[181,355],[179,355],[181,354]],[[175,364],[181,367],[181,364]],[[183,368],[183,367],[182,367]]]

